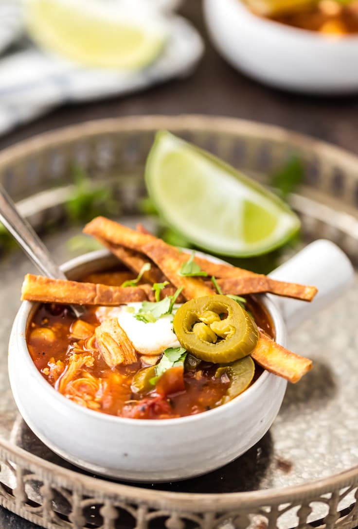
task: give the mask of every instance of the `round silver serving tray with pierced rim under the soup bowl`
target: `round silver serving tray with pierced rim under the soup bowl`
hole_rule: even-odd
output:
[[[275,127],[201,116],[133,117],[69,127],[0,153],[0,178],[41,229],[57,261],[74,257],[64,202],[70,166],[106,179],[122,205],[121,222],[137,221],[142,170],[154,131],[168,128],[254,177],[298,154],[306,181],[291,197],[303,242],[328,238],[358,262],[358,159]],[[55,186],[55,188],[54,188]],[[7,341],[20,288],[32,265],[20,250],[0,260],[0,503],[46,527],[353,527],[358,523],[358,281],[351,291],[290,336],[314,370],[290,385],[270,431],[242,457],[208,475],[167,484],[126,485],[86,475],[51,452],[19,416],[7,378]],[[41,403],[39,403],[39,406]],[[263,406],[265,404],[263,403]],[[56,417],[53,418],[56,420]],[[342,473],[340,475],[340,473]]]

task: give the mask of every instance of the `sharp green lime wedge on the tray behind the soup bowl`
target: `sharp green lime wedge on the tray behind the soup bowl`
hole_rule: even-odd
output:
[[[214,253],[257,256],[300,228],[298,217],[276,195],[167,131],[156,135],[145,178],[167,224]]]

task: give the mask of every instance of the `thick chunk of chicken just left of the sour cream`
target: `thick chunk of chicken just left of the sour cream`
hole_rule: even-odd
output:
[[[96,327],[95,334],[103,359],[109,367],[137,361],[132,342],[115,318],[104,320]]]

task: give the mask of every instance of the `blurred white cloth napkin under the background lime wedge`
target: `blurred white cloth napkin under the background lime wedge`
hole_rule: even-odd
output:
[[[62,103],[127,94],[189,75],[203,53],[198,32],[173,16],[163,54],[135,72],[89,69],[30,47],[0,59],[0,134]]]

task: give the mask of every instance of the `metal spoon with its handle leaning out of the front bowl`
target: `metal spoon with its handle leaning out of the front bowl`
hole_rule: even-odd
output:
[[[42,275],[51,279],[67,279],[64,272],[56,265],[50,252],[30,226],[28,221],[20,215],[12,199],[0,184],[0,221],[20,244],[23,251],[31,259]],[[84,309],[78,305],[70,305],[77,318],[84,314]]]

